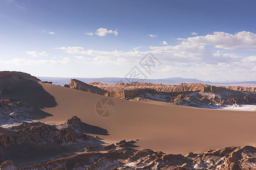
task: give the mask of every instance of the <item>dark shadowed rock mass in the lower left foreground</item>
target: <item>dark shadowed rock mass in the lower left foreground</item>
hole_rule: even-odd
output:
[[[75,119],[79,120],[77,117]],[[72,120],[74,118],[67,121],[72,126],[83,124]],[[66,155],[64,152],[74,155],[74,152],[82,152],[86,146],[101,146],[102,143],[97,137],[70,127],[22,122],[18,126],[0,128],[0,161],[5,166],[6,159],[12,160],[17,166],[38,163],[45,159],[61,158]]]

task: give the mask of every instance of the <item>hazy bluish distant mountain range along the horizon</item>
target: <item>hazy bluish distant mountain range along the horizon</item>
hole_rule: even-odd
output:
[[[116,84],[116,83],[131,83],[131,82],[145,82],[145,83],[154,83],[154,84],[165,84],[165,85],[174,85],[174,84],[181,84],[181,83],[202,83],[202,84],[209,84],[209,85],[216,85],[216,86],[256,86],[256,81],[245,81],[245,82],[209,82],[209,81],[202,81],[198,79],[192,78],[165,78],[165,79],[126,79],[126,78],[115,78],[115,77],[106,77],[106,78],[58,78],[58,77],[38,77],[42,81],[53,82],[53,84],[57,84],[60,86],[64,86],[65,84],[70,83],[70,79],[78,79],[85,83],[91,82],[101,82],[107,84]]]

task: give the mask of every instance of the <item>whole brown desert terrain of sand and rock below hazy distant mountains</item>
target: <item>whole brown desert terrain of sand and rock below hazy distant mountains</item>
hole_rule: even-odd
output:
[[[10,71],[0,87],[1,169],[255,168],[256,112],[217,108],[255,104],[255,87],[61,87]]]

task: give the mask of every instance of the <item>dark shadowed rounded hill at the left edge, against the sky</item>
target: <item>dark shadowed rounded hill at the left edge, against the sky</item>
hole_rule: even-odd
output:
[[[40,79],[27,73],[0,71],[0,100],[14,99],[31,105],[35,108],[35,118],[51,116],[41,111],[41,108],[55,107],[57,103],[44,90],[42,83]]]

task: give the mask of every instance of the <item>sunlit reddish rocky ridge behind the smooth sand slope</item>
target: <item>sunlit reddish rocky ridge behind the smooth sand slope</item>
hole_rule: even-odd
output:
[[[182,83],[165,86],[153,83],[117,83],[106,85],[93,82],[95,86],[109,91],[105,95],[120,99],[150,99],[175,105],[213,108],[217,105],[255,104],[256,87],[224,87],[200,83]]]

